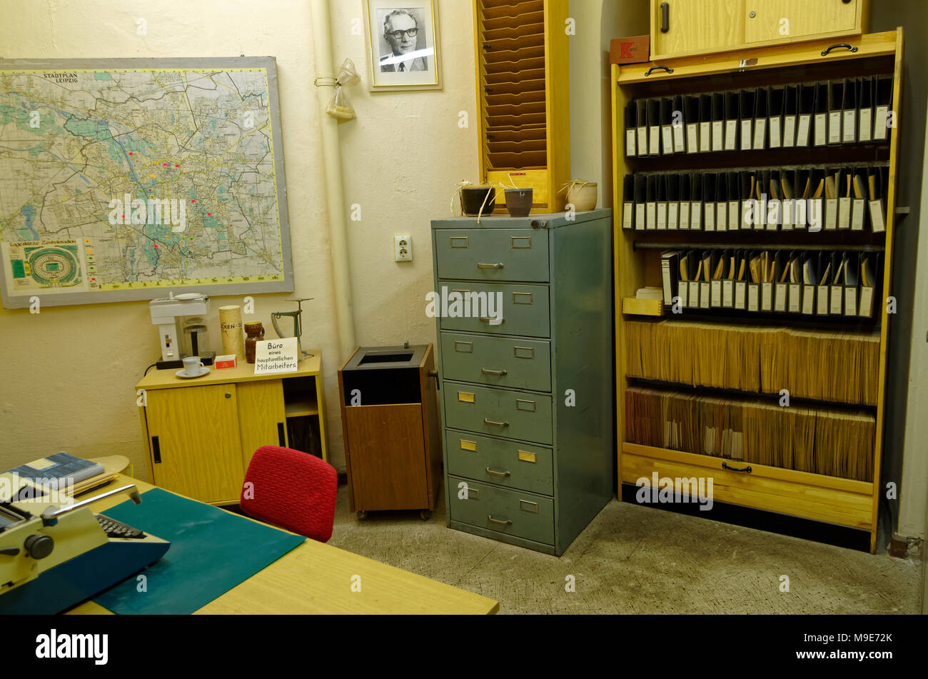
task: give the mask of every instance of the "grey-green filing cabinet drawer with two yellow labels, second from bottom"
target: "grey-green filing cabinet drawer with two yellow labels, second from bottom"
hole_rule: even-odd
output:
[[[445,429],[449,474],[521,491],[554,494],[550,448]]]

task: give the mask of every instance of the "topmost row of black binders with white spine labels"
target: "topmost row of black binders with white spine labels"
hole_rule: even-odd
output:
[[[892,105],[889,75],[632,99],[625,155],[882,143]]]

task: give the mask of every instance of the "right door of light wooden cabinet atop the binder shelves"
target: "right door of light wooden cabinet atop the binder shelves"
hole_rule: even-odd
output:
[[[819,33],[859,32],[861,0],[744,0],[744,40],[763,43]],[[751,16],[754,12],[754,17]]]

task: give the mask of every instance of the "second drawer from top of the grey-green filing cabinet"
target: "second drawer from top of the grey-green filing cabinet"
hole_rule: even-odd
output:
[[[456,281],[440,281],[439,285],[442,287],[439,290],[442,301],[435,302],[435,314],[441,315],[439,327],[442,330],[540,338],[551,336],[548,286],[517,283],[487,285]],[[445,294],[448,308],[439,310],[439,303],[445,307]],[[456,300],[460,300],[457,302],[458,308],[455,307]],[[490,314],[491,307],[493,314]],[[452,314],[468,317],[452,317]]]

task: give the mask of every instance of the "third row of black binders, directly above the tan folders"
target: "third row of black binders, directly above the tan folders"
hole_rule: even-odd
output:
[[[666,250],[664,306],[872,318],[883,253]]]

